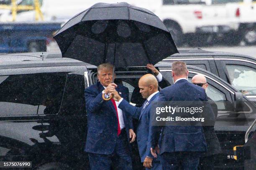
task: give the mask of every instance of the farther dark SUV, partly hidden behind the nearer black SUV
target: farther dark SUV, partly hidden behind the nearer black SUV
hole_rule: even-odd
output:
[[[205,69],[222,78],[240,92],[256,101],[256,58],[230,52],[179,50],[164,62],[182,60],[187,65]]]

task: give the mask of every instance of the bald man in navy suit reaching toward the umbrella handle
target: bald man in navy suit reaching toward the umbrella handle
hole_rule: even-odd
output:
[[[146,99],[142,107],[130,105],[127,100],[123,99],[123,97],[118,94],[118,92],[113,92],[113,98],[118,101],[118,107],[120,109],[129,113],[135,119],[138,119],[137,141],[141,162],[143,162],[144,167],[146,167],[146,170],[149,168],[151,170],[161,170],[162,167],[160,161],[151,155],[151,140],[149,136],[151,131],[150,108],[151,103],[158,100],[158,82],[154,75],[146,74],[140,78],[138,86],[142,97]]]

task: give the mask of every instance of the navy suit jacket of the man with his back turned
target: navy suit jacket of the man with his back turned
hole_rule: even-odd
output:
[[[207,101],[207,95],[202,87],[182,79],[174,85],[162,89],[159,101]],[[214,117],[210,104],[206,106],[208,107],[207,112]],[[153,126],[151,145],[154,147],[158,144],[161,129],[160,154],[207,151],[202,126]]]

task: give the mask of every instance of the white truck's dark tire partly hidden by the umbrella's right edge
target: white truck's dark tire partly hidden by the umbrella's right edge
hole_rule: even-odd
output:
[[[169,32],[172,35],[172,39],[174,40],[175,44],[177,46],[181,46],[183,45],[183,34],[182,34],[182,30],[179,27],[179,25],[175,24],[175,23],[166,23],[166,28],[169,30]]]

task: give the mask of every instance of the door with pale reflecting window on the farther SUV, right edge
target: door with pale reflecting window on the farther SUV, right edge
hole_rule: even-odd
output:
[[[215,58],[220,78],[226,80],[250,100],[256,101],[256,62]]]

